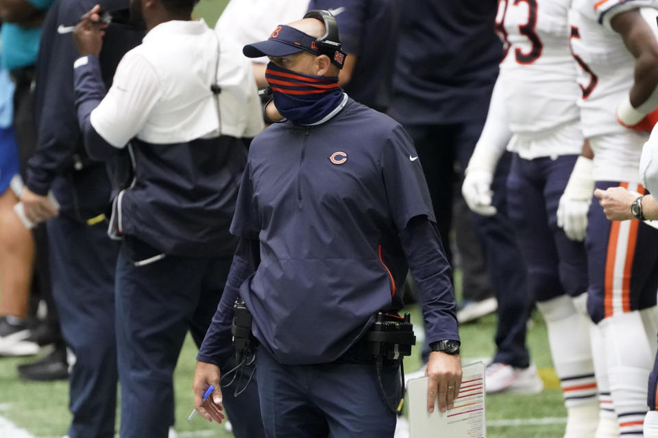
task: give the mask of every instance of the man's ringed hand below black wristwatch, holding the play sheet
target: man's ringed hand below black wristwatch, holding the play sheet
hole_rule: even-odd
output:
[[[459,355],[448,355],[441,351],[432,351],[425,375],[429,377],[427,411],[434,411],[434,403],[437,398],[440,412],[452,409],[454,400],[459,396],[459,386],[461,385]]]

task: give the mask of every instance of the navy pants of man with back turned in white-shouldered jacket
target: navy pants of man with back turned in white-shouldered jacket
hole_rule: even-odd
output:
[[[126,237],[117,261],[117,347],[121,380],[121,438],[166,438],[173,419],[173,370],[190,331],[201,345],[217,310],[232,257],[167,255]],[[193,363],[195,357],[185,361]],[[258,387],[234,398],[222,389],[238,438],[265,436]],[[193,407],[190,407],[192,409]]]

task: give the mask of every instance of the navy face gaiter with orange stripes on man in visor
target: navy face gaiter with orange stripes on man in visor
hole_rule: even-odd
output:
[[[302,75],[270,62],[265,79],[278,112],[297,125],[319,122],[343,101],[337,76]]]

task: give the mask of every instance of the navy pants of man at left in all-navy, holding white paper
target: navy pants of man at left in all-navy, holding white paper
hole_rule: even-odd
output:
[[[113,438],[117,409],[114,268],[118,246],[103,222],[89,226],[63,212],[46,222],[53,299],[75,353],[69,407],[72,438]]]

